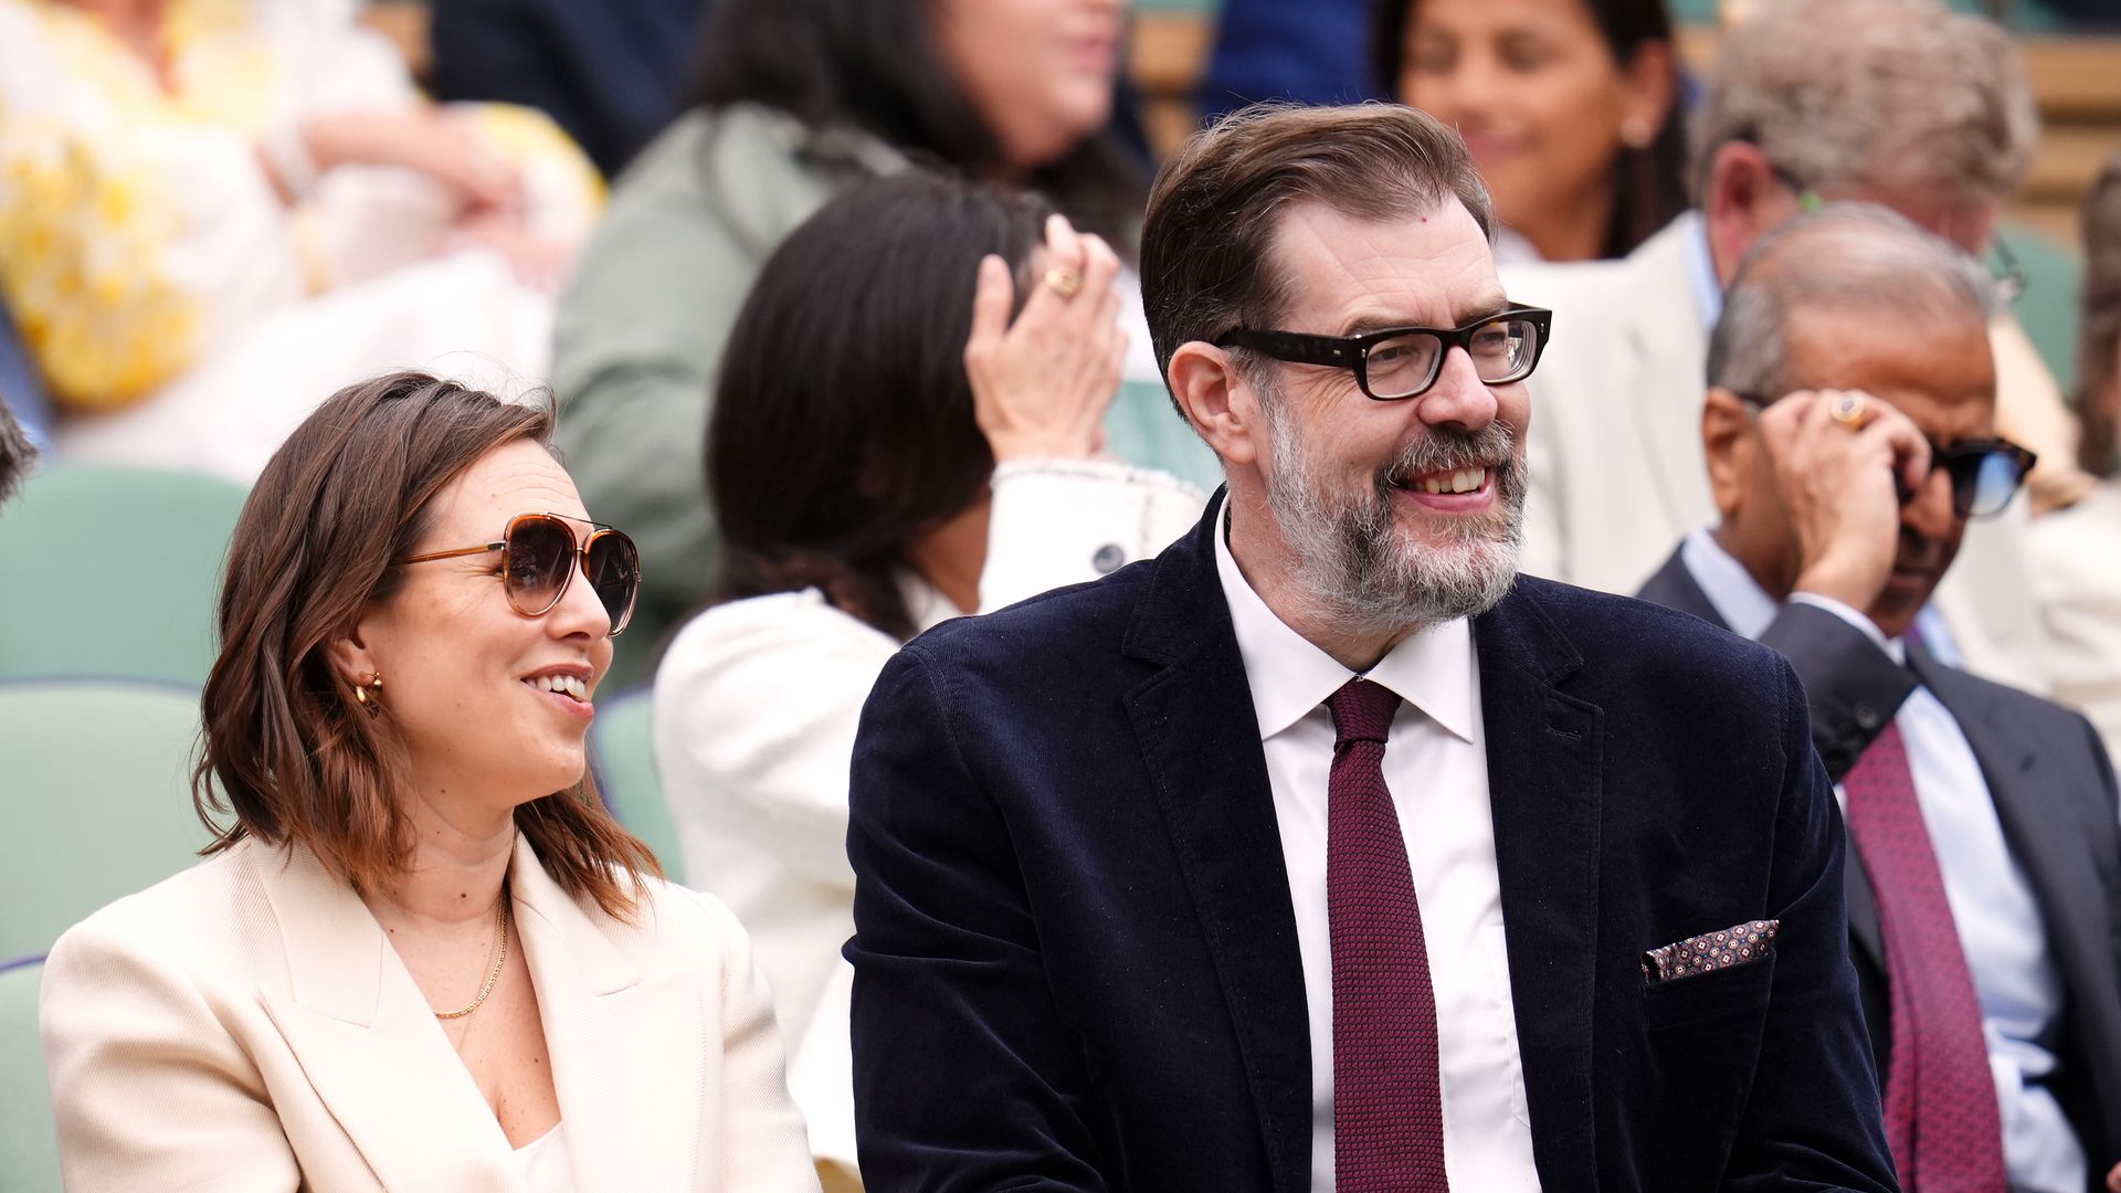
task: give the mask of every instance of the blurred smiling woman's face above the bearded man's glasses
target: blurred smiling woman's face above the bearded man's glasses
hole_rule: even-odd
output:
[[[1623,134],[1648,144],[1669,102],[1614,62],[1582,0],[1419,0],[1400,57],[1400,100],[1466,136],[1495,214],[1533,242],[1610,195]]]

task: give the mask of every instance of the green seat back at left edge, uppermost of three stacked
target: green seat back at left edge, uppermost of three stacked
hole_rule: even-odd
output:
[[[117,675],[204,684],[214,599],[244,488],[55,465],[0,509],[0,679]]]

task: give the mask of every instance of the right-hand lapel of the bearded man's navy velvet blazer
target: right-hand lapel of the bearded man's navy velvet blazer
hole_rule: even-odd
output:
[[[1544,1187],[1582,1189],[1597,1172],[1603,713],[1559,690],[1582,658],[1521,590],[1474,620],[1474,645],[1531,1155]]]

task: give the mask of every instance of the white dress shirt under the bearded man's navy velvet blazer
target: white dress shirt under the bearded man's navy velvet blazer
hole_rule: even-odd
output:
[[[1355,673],[1260,601],[1224,535],[1215,535],[1215,569],[1260,717],[1281,858],[1290,870],[1311,1017],[1311,1189],[1326,1193],[1334,1189],[1332,934],[1326,919],[1326,779],[1334,728],[1326,696]],[[1453,1189],[1538,1189],[1504,953],[1472,624],[1461,618],[1402,641],[1368,679],[1402,698],[1385,741],[1385,785],[1406,838],[1436,989],[1444,1168]]]

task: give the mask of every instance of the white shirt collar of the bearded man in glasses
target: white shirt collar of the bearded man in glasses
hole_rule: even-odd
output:
[[[1254,592],[1251,582],[1245,580],[1230,554],[1228,518],[1230,503],[1224,499],[1215,514],[1215,524],[1222,531],[1215,535],[1215,575],[1230,603],[1237,652],[1245,660],[1251,707],[1260,717],[1260,741],[1268,741],[1324,705],[1326,696],[1338,692],[1355,673],[1292,630]],[[1478,745],[1474,705],[1480,690],[1472,624],[1466,618],[1408,635],[1406,641],[1377,660],[1366,679],[1383,684],[1453,737]]]

